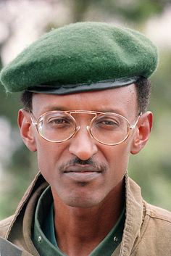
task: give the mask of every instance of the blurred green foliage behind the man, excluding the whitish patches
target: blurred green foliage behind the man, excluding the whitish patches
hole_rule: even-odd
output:
[[[170,1],[64,0],[63,3],[70,7],[72,14],[70,22],[82,20],[108,22],[114,17],[114,20],[122,20],[128,26],[132,25],[143,30],[146,21],[153,15],[161,15]],[[52,27],[53,24],[46,25],[47,30]],[[129,165],[130,176],[141,186],[144,199],[168,210],[171,210],[170,67],[171,48],[159,49],[159,68],[151,79],[153,89],[149,106],[149,110],[154,112],[154,128],[145,149],[138,155],[131,156]],[[20,94],[5,94],[0,86],[0,102],[0,117],[6,117],[12,128],[16,128],[17,110],[22,107]],[[28,183],[37,172],[36,153],[29,152],[21,143],[3,168],[5,172],[2,173],[0,180],[0,218],[12,214]]]

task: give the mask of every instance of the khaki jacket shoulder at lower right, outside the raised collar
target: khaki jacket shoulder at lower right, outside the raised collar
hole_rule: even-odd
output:
[[[171,212],[143,202],[144,214],[141,231],[133,255],[171,255]]]

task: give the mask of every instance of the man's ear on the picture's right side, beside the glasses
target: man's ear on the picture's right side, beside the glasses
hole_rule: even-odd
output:
[[[137,128],[134,133],[131,150],[132,154],[137,154],[143,149],[143,146],[146,145],[146,142],[149,140],[153,123],[153,114],[151,112],[146,112],[141,115],[138,120]]]

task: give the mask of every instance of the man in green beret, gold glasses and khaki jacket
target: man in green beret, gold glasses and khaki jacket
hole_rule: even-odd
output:
[[[1,255],[171,255],[171,214],[144,202],[128,160],[149,139],[157,49],[128,28],[52,30],[1,71],[40,173],[1,221]]]

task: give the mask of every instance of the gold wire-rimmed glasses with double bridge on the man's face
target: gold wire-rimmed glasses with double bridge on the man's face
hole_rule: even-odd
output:
[[[43,139],[50,142],[62,143],[71,139],[80,130],[80,125],[73,115],[94,115],[90,124],[86,126],[91,138],[101,144],[115,146],[128,139],[130,131],[135,128],[139,117],[133,125],[127,118],[113,112],[96,112],[88,110],[52,110],[43,113],[38,119],[30,112],[33,125]],[[36,120],[34,122],[33,120]]]

